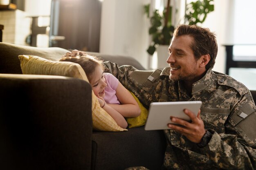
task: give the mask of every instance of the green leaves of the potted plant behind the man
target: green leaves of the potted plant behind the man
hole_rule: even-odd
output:
[[[163,14],[159,13],[159,10],[153,11],[153,15],[149,16],[150,4],[144,6],[144,12],[150,19],[149,34],[152,37],[152,42],[149,45],[147,52],[153,55],[157,46],[159,45],[170,45],[171,39],[173,38],[173,31],[175,26],[171,22],[171,13],[173,9],[170,6],[168,0],[166,7],[164,8]],[[197,0],[186,4],[186,14],[184,16],[185,24],[198,24],[203,23],[207,17],[207,14],[214,10],[214,5],[211,4],[213,0]]]

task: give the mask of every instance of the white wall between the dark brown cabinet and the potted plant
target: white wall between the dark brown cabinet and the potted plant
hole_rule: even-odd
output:
[[[150,0],[103,0],[100,52],[132,56],[148,67],[148,26],[143,5]]]

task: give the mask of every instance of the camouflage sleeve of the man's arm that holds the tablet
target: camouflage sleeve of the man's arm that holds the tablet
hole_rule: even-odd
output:
[[[256,169],[256,107],[248,91],[231,110],[225,133],[213,136],[201,152],[223,169]]]

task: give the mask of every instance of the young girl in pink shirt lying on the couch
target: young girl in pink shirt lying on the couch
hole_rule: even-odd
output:
[[[60,61],[80,64],[98,97],[100,106],[117,122],[121,128],[128,126],[124,117],[137,117],[140,108],[130,92],[110,73],[103,73],[102,60],[96,56],[78,52],[66,53]]]

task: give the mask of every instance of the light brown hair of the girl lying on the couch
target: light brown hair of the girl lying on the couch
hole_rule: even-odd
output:
[[[95,71],[96,66],[101,66],[101,69],[104,71],[105,67],[103,66],[103,60],[100,57],[94,55],[83,55],[75,57],[62,57],[61,62],[74,62],[82,66],[85,71],[86,76],[88,77],[89,82],[92,79],[92,74]]]

